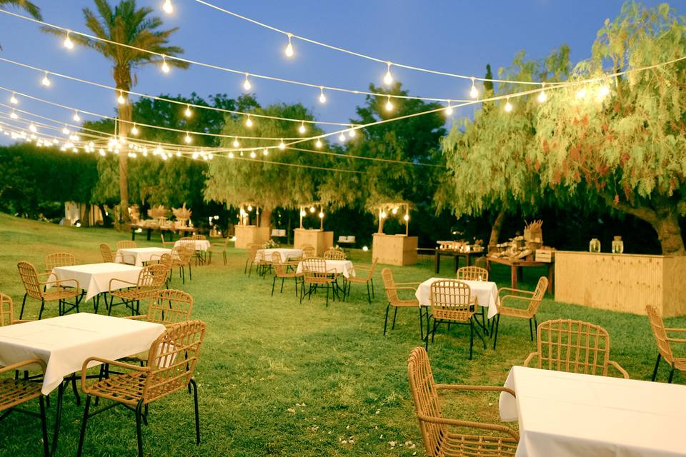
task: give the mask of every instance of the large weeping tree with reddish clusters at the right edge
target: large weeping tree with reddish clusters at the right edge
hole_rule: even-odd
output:
[[[542,164],[543,186],[649,223],[664,254],[685,253],[686,62],[675,61],[684,49],[686,26],[673,9],[625,4],[572,76],[601,79],[551,94],[530,157]],[[604,66],[626,73],[602,79]]]

